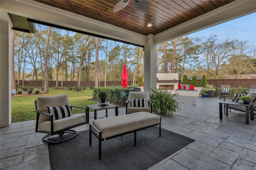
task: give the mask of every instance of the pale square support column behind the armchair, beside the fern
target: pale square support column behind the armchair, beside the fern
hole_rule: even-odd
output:
[[[152,93],[151,89],[156,87],[156,44],[154,44],[154,35],[147,37],[147,44],[144,47],[144,92]]]

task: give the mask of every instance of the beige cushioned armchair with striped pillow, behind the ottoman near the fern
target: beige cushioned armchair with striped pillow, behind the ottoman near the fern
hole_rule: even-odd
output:
[[[152,113],[152,102],[147,92],[129,92],[126,101],[126,114],[146,111]]]

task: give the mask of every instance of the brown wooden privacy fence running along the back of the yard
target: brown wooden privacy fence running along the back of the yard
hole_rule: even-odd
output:
[[[180,84],[181,80],[179,80]],[[188,80],[190,84],[190,80]],[[251,85],[256,85],[256,79],[218,79],[218,80],[207,80],[208,84],[213,84],[215,87],[220,87],[222,84],[228,84],[232,87],[242,87],[242,88],[248,88]],[[16,80],[16,83],[18,83],[18,80]],[[137,83],[137,82],[136,82]],[[197,85],[200,87],[201,80],[197,80]],[[56,84],[56,81],[49,81],[49,87],[54,88]],[[132,81],[128,81],[128,85],[132,85]],[[20,80],[20,84],[18,86],[22,86],[22,80]],[[36,80],[24,80],[24,86],[25,87],[42,87],[43,82],[36,81]],[[58,81],[59,88],[61,87],[61,81]],[[63,81],[63,88],[70,87],[70,86],[77,86],[77,81]],[[90,87],[95,86],[94,81],[82,81],[81,87]],[[104,82],[100,82],[100,86],[104,87]],[[106,82],[106,86],[122,86],[121,81],[108,81]]]

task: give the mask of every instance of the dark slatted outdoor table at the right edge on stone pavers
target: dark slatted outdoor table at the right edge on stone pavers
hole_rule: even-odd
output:
[[[226,114],[226,116],[228,116],[228,105],[237,105],[237,106],[244,106],[245,107],[245,123],[249,124],[249,107],[250,107],[250,113],[251,113],[251,120],[254,120],[254,113],[253,113],[253,103],[250,104],[239,104],[238,102],[230,102],[230,101],[226,101],[226,102],[219,102],[220,105],[220,119],[222,119],[222,104],[227,105],[226,109],[224,111],[224,113]]]

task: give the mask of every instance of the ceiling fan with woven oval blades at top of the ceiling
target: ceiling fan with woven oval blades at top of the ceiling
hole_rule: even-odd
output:
[[[124,9],[128,4],[130,0],[120,0],[113,8],[113,12],[118,12],[122,9]],[[141,12],[148,12],[149,6],[148,2],[146,0],[133,0],[133,5],[137,10]]]

